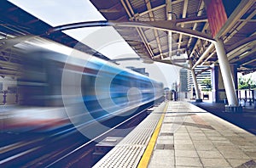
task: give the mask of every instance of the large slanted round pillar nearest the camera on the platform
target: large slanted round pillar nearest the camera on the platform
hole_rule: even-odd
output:
[[[224,42],[221,39],[217,39],[217,42],[215,42],[214,44],[218,55],[218,63],[221,74],[223,76],[224,87],[228,98],[229,106],[237,107],[238,99],[236,96],[236,88],[230,70],[229,60],[224,50]]]

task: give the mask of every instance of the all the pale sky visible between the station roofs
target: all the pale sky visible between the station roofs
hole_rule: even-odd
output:
[[[9,2],[51,26],[106,20],[89,0],[76,0],[75,3],[70,0],[9,0]],[[88,27],[63,32],[94,48],[109,59],[139,58],[113,27]],[[142,61],[123,61],[119,64],[122,67],[146,68],[149,76],[156,81],[162,81],[165,87],[171,88],[172,83],[179,80],[179,68],[171,64],[143,64]]]

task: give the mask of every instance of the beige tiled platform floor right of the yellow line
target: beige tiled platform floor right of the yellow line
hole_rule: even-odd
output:
[[[193,104],[169,102],[148,167],[256,167],[255,160],[253,134]]]

